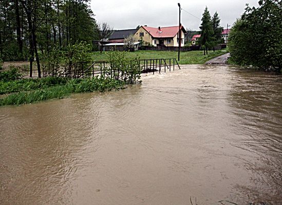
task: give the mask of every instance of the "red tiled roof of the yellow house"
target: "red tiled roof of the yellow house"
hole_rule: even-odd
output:
[[[168,38],[174,37],[178,33],[179,26],[171,26],[171,27],[161,27],[159,30],[158,28],[142,26],[149,34],[151,34],[154,38]],[[185,31],[183,26],[181,29]]]

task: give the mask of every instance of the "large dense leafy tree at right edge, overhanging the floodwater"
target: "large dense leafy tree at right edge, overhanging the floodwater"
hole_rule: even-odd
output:
[[[282,2],[260,0],[257,8],[249,7],[234,24],[229,47],[231,60],[238,65],[281,72]]]

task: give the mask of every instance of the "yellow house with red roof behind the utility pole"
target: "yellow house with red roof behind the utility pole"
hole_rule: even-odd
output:
[[[181,47],[184,46],[184,33],[186,33],[183,26],[181,29]],[[135,36],[143,39],[144,42],[152,46],[167,46],[178,47],[178,31],[179,26],[159,27],[153,28],[148,26],[141,26],[136,32]]]

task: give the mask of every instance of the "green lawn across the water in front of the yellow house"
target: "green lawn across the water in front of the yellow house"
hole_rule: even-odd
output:
[[[178,52],[173,51],[135,51],[126,52],[127,57],[135,58],[140,57],[140,59],[145,58],[178,58]],[[179,64],[204,64],[206,61],[226,53],[225,51],[209,51],[208,55],[203,55],[203,51],[189,51],[180,52]],[[93,52],[93,60],[107,60],[106,52]]]

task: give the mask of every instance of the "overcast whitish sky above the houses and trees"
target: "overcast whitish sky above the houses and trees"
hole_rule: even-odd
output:
[[[211,16],[217,11],[221,26],[233,25],[245,11],[246,4],[257,7],[258,0],[91,0],[98,23],[106,22],[114,29],[134,29],[138,25],[165,27],[178,25],[178,6],[201,19],[205,6]],[[181,10],[184,28],[199,30],[201,20]]]

